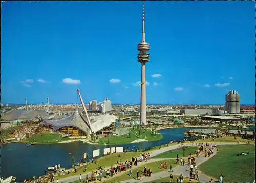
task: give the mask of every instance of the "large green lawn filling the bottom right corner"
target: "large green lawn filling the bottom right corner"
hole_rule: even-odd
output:
[[[224,175],[225,182],[253,182],[255,175],[254,144],[218,146],[218,153],[199,166],[199,169],[215,178]],[[249,155],[236,156],[237,153]]]

